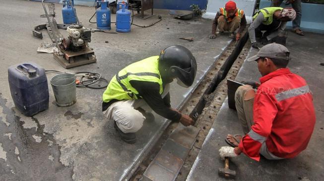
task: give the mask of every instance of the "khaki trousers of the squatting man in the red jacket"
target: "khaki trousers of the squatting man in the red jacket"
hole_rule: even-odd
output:
[[[245,99],[245,94],[247,91],[253,89],[250,85],[240,86],[235,92],[235,107],[237,114],[244,132],[244,135],[247,135],[251,126],[254,125],[253,121],[253,103],[254,97],[250,99]],[[262,142],[260,148],[260,154],[268,160],[280,160],[283,158],[273,155],[266,147],[265,141]]]

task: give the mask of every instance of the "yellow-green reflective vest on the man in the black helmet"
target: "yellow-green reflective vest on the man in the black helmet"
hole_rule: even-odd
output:
[[[119,71],[112,78],[102,95],[103,101],[109,102],[112,99],[130,100],[141,98],[138,95],[138,91],[130,85],[131,80],[158,83],[160,85],[160,94],[162,94],[163,86],[159,72],[159,56],[145,58]]]

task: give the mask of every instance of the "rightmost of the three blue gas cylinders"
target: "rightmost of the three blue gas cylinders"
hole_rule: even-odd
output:
[[[118,3],[117,6],[121,5],[116,12],[116,31],[127,33],[130,32],[130,10],[126,9],[126,3]]]

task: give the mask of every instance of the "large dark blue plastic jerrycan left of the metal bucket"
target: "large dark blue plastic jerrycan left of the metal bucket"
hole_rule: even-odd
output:
[[[14,105],[25,116],[48,109],[49,90],[43,68],[35,63],[10,66],[8,81]]]

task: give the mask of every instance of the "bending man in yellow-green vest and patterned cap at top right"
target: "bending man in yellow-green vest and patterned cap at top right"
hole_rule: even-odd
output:
[[[296,11],[291,7],[265,7],[253,16],[249,27],[249,36],[252,47],[261,48],[271,43],[277,36],[285,36],[287,21],[296,18]],[[261,31],[265,31],[263,34]],[[262,42],[261,42],[262,41]]]

